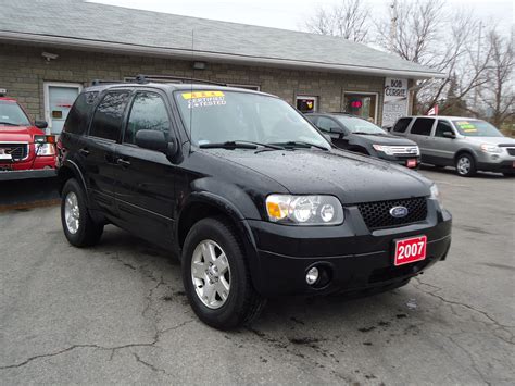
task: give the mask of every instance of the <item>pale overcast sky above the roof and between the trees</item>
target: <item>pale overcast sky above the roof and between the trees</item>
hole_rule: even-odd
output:
[[[267,27],[301,29],[303,21],[317,4],[337,0],[91,0],[149,11],[167,12]],[[388,0],[363,0],[375,12],[386,12]],[[513,0],[448,0],[451,7],[470,8],[485,20],[508,34],[514,23]]]

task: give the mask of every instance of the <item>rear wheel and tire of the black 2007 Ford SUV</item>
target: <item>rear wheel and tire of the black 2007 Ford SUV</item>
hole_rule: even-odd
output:
[[[61,197],[61,223],[68,242],[79,248],[98,244],[103,224],[95,223],[89,215],[86,194],[76,179],[66,180]]]

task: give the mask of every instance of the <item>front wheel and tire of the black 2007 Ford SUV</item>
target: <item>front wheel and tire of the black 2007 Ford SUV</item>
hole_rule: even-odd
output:
[[[250,323],[266,302],[252,286],[241,241],[219,217],[201,220],[189,231],[183,248],[183,282],[197,316],[217,329]]]

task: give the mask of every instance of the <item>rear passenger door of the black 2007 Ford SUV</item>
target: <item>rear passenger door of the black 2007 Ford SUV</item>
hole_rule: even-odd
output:
[[[88,136],[78,149],[85,165],[89,195],[108,215],[117,216],[114,202],[114,180],[117,165],[114,151],[124,122],[130,90],[108,91],[93,113]]]

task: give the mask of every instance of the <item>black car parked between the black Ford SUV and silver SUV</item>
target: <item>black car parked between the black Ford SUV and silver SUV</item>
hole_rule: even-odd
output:
[[[416,169],[420,162],[418,146],[399,138],[360,116],[347,113],[313,113],[306,117],[330,136],[332,145],[406,167]]]

